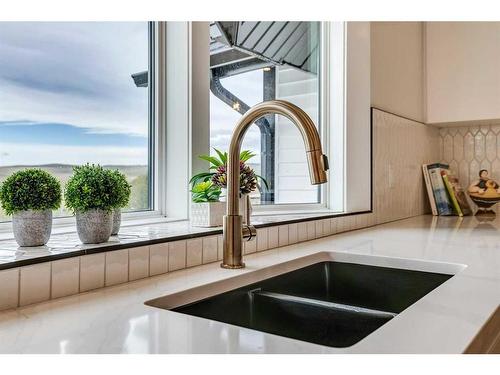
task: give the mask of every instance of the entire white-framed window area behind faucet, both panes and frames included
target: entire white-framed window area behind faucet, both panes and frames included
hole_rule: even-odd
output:
[[[256,211],[367,210],[369,48],[363,22],[0,22],[0,181],[36,166],[64,183],[99,163],[127,175],[129,211],[187,219],[197,156],[284,99],[318,126],[330,183],[309,184],[298,130],[267,116],[243,142],[271,185]]]

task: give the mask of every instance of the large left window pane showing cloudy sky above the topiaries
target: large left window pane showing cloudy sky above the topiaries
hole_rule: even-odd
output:
[[[127,176],[129,211],[152,209],[152,30],[147,22],[0,22],[0,182],[39,167],[64,184],[74,165],[99,163]]]

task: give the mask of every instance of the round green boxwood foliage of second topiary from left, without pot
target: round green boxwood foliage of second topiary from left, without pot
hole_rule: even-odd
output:
[[[100,165],[74,167],[64,192],[66,207],[73,212],[92,209],[111,211],[118,208],[124,203],[125,196],[121,183],[116,173]]]

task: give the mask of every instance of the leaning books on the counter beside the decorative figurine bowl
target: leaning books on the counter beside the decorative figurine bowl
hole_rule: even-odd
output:
[[[472,210],[458,179],[448,164],[422,165],[433,215],[470,215]]]

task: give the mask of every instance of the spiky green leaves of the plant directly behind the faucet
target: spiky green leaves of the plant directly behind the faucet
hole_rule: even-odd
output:
[[[199,182],[212,181],[219,188],[227,187],[227,152],[222,152],[214,148],[217,156],[200,155],[199,158],[210,163],[209,172],[202,172],[194,175],[189,181],[193,186]],[[269,189],[267,181],[257,175],[246,162],[256,154],[249,150],[240,153],[240,194],[248,194],[258,187],[258,180],[261,180],[266,189]]]

